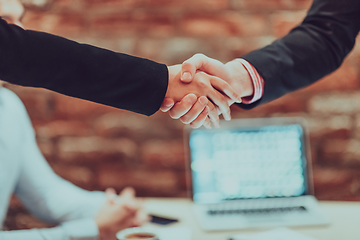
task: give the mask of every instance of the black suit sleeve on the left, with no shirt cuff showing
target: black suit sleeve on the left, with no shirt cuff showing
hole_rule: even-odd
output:
[[[168,70],[0,19],[0,79],[151,115],[165,97]]]

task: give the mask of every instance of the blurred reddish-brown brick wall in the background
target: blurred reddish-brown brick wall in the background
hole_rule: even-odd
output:
[[[23,0],[25,27],[166,64],[202,52],[221,61],[284,36],[310,0]],[[316,196],[360,200],[360,46],[313,86],[234,118],[303,116],[310,125]],[[24,101],[55,171],[89,190],[136,188],[186,196],[183,125],[42,89],[10,86]],[[30,220],[29,220],[30,219]],[[43,226],[13,199],[9,229]]]

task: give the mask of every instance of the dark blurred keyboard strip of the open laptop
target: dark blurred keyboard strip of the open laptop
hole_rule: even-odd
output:
[[[242,215],[257,215],[257,214],[284,214],[290,212],[305,212],[304,206],[297,207],[281,207],[281,208],[262,208],[262,209],[227,209],[227,210],[208,210],[209,215],[227,215],[227,214],[242,214]]]

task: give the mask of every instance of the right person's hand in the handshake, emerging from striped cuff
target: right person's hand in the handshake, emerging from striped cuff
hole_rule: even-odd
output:
[[[240,97],[253,95],[254,90],[250,75],[239,61],[233,60],[223,64],[203,54],[195,54],[182,64],[181,81],[186,83],[191,82],[197,71],[204,71],[225,80]],[[221,91],[221,89],[219,90]],[[179,105],[179,103],[174,104],[172,99],[165,98],[161,110],[163,112],[170,111],[172,115],[176,115],[184,122],[183,119],[188,117],[187,111],[185,110],[189,111],[194,104],[191,101],[184,101],[186,98],[188,98],[188,96],[184,97],[181,105]],[[231,105],[234,101],[228,103]],[[206,117],[204,117],[202,113],[200,114],[199,110],[192,110],[192,115],[196,114],[199,114],[199,117],[195,119],[195,122],[191,122],[190,125],[192,127],[200,127],[202,125],[201,123],[204,123],[204,126],[206,126]]]

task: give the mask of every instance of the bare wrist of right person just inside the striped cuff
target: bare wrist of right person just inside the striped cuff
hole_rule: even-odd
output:
[[[230,78],[228,82],[235,91],[241,97],[248,97],[254,94],[253,81],[249,72],[242,65],[241,62],[237,60],[232,60],[225,64],[228,69]]]

